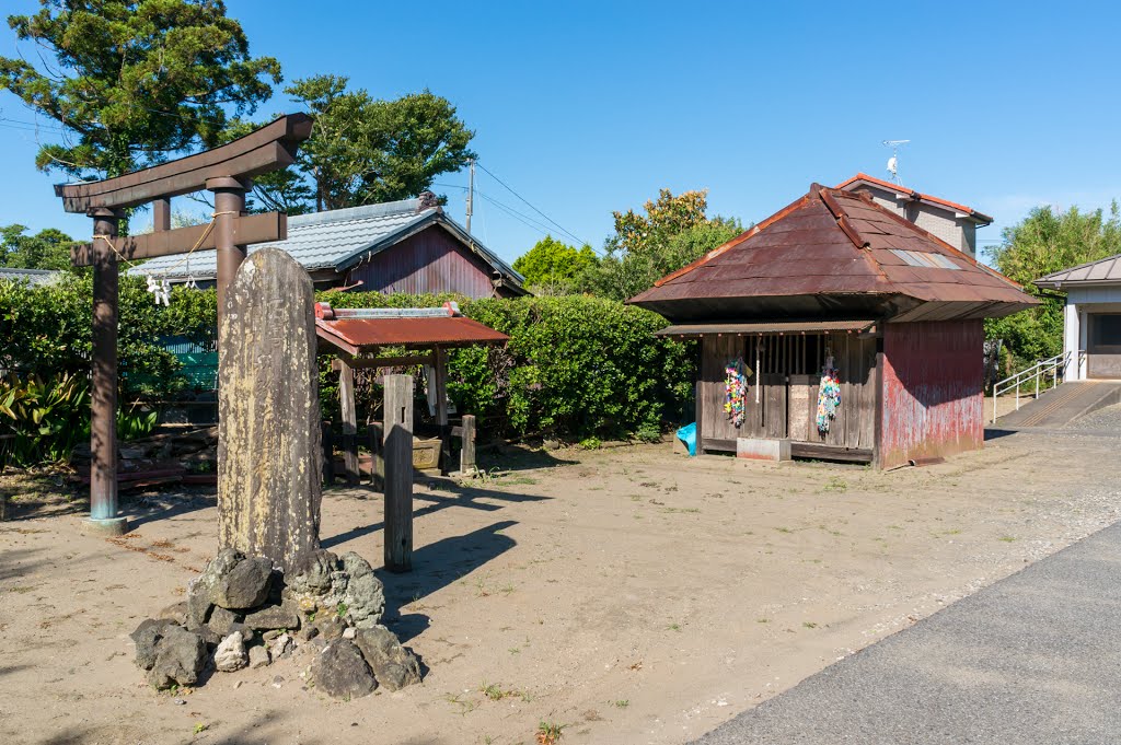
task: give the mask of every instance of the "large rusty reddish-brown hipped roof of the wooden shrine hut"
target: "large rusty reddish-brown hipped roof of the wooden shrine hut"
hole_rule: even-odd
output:
[[[936,260],[916,267],[899,251]],[[1038,300],[870,196],[814,184],[802,198],[630,302],[670,320],[747,320],[773,318],[772,309],[762,315],[763,309],[785,305],[810,306],[815,317],[897,319],[929,304],[943,319],[998,317]]]

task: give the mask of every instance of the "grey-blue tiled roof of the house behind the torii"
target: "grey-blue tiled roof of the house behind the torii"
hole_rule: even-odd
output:
[[[382,251],[411,235],[429,223],[438,222],[494,269],[517,283],[525,278],[470,235],[454,220],[436,207],[421,208],[420,199],[404,199],[371,204],[363,207],[332,209],[288,218],[288,239],[276,243],[249,246],[249,252],[265,248],[280,249],[304,269],[342,271],[364,257]],[[128,270],[130,274],[150,274],[169,281],[214,279],[217,273],[216,252],[196,251],[189,260],[185,254],[159,257]],[[188,271],[189,270],[189,271]]]

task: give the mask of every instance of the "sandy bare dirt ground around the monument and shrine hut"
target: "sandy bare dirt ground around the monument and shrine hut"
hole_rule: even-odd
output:
[[[350,702],[308,688],[299,654],[174,696],[145,685],[128,633],[215,552],[213,494],[128,502],[136,530],[110,541],[81,533],[82,502],[8,478],[0,742],[507,744],[556,724],[562,745],[684,743],[1115,521],[1121,409],[1095,416],[891,473],[652,445],[421,477],[415,569],[381,576],[428,671]],[[381,510],[328,492],[325,547],[379,566]]]

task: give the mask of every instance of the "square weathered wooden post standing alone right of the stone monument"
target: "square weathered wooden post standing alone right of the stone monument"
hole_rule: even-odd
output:
[[[413,568],[413,375],[386,375],[386,568]]]

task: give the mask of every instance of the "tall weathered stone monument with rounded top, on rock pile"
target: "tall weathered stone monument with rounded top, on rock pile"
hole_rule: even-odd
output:
[[[319,547],[319,393],[312,278],[253,253],[219,326],[219,543],[282,571]]]

